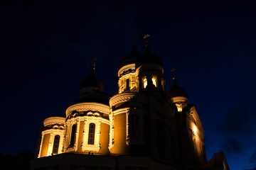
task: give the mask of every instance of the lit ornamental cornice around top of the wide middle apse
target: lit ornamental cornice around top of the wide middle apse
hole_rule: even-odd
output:
[[[101,103],[92,103],[92,102],[86,102],[86,103],[78,103],[71,105],[66,110],[66,117],[73,113],[73,111],[97,111],[100,113],[105,113],[107,115],[110,114],[110,106],[107,106],[105,104]]]

